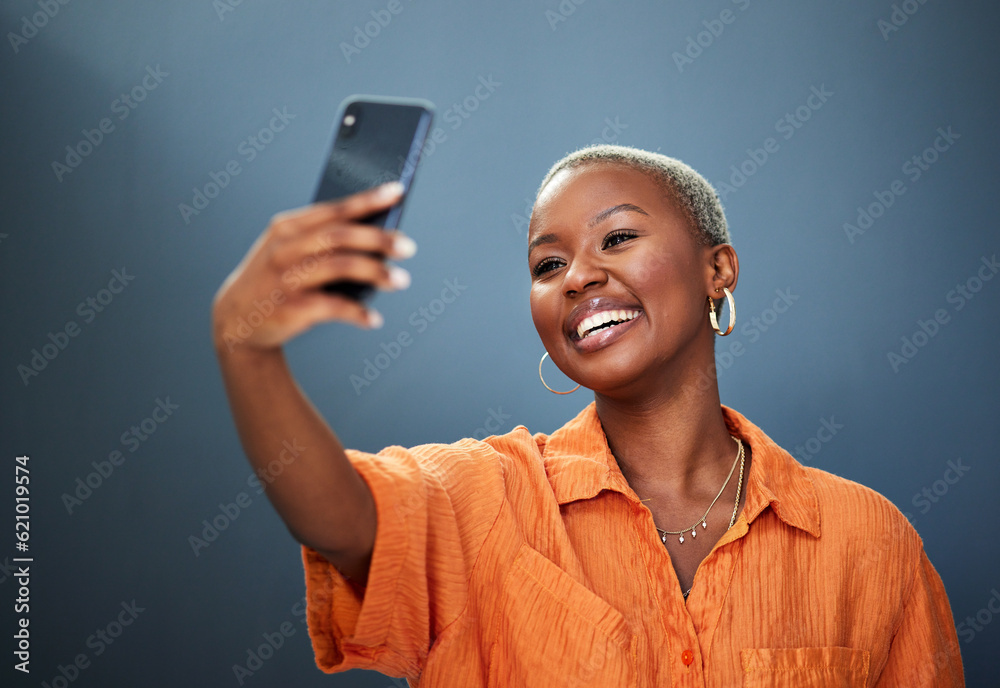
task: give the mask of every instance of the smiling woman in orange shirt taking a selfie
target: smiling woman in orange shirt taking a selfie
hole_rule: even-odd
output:
[[[677,160],[586,148],[539,189],[531,313],[594,392],[576,418],[345,452],[281,345],[380,323],[321,285],[408,284],[385,259],[412,241],[357,223],[398,193],[276,216],[214,306],[251,462],[309,448],[268,495],[303,545],[322,669],[424,688],[963,685],[941,579],[899,510],[720,404],[714,340],[739,262],[715,191]],[[238,331],[265,300],[279,305]]]

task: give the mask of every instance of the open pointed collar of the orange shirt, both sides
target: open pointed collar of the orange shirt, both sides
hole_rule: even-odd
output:
[[[753,448],[743,507],[747,523],[770,506],[784,523],[819,537],[819,500],[805,467],[740,413],[722,406],[722,415],[729,432]],[[559,504],[590,499],[601,490],[639,501],[608,449],[596,402],[552,433],[543,460]]]

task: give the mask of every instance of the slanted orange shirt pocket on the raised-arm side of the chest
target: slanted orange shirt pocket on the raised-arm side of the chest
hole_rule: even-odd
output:
[[[503,582],[489,688],[636,684],[621,612],[522,545]]]

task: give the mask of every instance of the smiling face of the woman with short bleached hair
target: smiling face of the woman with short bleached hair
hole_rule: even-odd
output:
[[[610,393],[711,356],[713,248],[645,174],[610,163],[558,173],[528,241],[531,317],[575,382]]]

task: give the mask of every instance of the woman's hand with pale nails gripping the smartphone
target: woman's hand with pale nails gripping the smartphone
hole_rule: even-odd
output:
[[[323,285],[352,280],[385,290],[409,286],[409,273],[386,264],[386,258],[409,258],[416,252],[413,240],[359,222],[391,207],[401,193],[399,183],[392,182],[275,215],[215,295],[216,349],[278,349],[326,321],[380,327],[378,312],[325,292]]]

